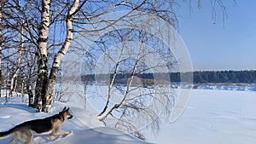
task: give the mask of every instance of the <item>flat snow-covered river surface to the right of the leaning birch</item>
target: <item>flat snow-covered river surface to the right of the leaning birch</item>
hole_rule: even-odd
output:
[[[193,89],[175,123],[148,141],[159,144],[255,144],[256,92]]]

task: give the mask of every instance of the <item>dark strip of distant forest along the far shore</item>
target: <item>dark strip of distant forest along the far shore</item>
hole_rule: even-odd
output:
[[[158,73],[158,75],[169,76],[172,83],[180,82],[180,75],[186,75],[191,72],[171,72]],[[143,81],[143,84],[154,84],[154,75],[153,73],[142,73],[137,74],[137,78],[140,78]],[[113,78],[113,75],[101,75],[98,77],[102,78]],[[226,83],[247,83],[247,84],[256,84],[256,71],[201,71],[193,72],[194,83],[195,84],[226,84]],[[101,78],[101,79],[102,79]],[[131,74],[117,74],[114,83],[124,84],[127,83],[127,79],[131,78]],[[168,78],[163,78],[163,80]],[[95,75],[84,75],[82,76],[83,82],[94,82]]]

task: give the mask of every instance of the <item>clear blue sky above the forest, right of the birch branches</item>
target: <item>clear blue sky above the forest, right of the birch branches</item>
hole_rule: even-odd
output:
[[[211,1],[201,9],[179,9],[179,33],[195,70],[256,70],[256,1],[225,0],[228,19],[219,9],[212,20]],[[195,3],[194,3],[195,4]]]

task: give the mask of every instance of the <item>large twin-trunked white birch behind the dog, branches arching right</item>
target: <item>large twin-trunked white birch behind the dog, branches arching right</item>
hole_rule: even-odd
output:
[[[199,5],[200,2],[198,1]],[[49,112],[56,74],[74,36],[79,36],[80,32],[87,32],[90,38],[90,35],[94,36],[104,29],[84,30],[84,25],[105,22],[107,24],[105,28],[108,28],[115,22],[91,21],[116,10],[138,10],[156,14],[172,26],[177,26],[175,12],[177,1],[9,0],[7,4],[8,9],[4,14],[9,16],[7,21],[9,27],[19,32],[26,43],[35,47],[32,54],[38,59],[38,78],[35,88],[35,107],[38,112]],[[24,33],[20,31],[20,27],[23,28]]]

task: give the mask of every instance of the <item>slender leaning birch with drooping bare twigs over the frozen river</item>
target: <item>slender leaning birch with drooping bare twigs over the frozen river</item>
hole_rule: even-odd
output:
[[[148,28],[149,26],[150,24],[148,24]],[[147,30],[117,30],[109,32],[99,39],[88,50],[91,56],[96,57],[91,58],[90,55],[87,55],[88,57],[84,58],[84,71],[88,71],[89,65],[93,64],[91,67],[94,68],[88,71],[88,74],[96,73],[96,82],[93,82],[96,83],[96,91],[93,94],[96,94],[97,101],[105,100],[101,103],[102,110],[99,111],[97,118],[108,126],[125,130],[131,135],[144,139],[139,131],[140,126],[151,122],[149,125],[156,132],[160,129],[160,118],[170,116],[175,95],[172,95],[172,89],[166,88],[170,82],[168,82],[169,76],[164,73],[166,71],[163,71],[165,69],[163,67],[167,66],[171,70],[176,66],[176,61],[173,60],[172,53],[162,45],[160,40],[150,35]],[[113,49],[109,48],[116,43],[121,44]],[[152,49],[146,47],[149,43]],[[103,53],[101,57],[97,57],[99,53]],[[154,57],[155,54],[161,55],[161,57]],[[165,60],[166,64],[160,63],[159,59]],[[155,63],[150,61],[155,61]],[[152,69],[158,69],[158,71],[154,71],[156,72],[154,79],[141,77],[143,74],[147,75],[148,72],[152,72]],[[111,72],[108,73],[109,70]],[[159,79],[160,75],[163,78]],[[151,105],[150,101],[156,104]],[[157,106],[158,104],[161,106]],[[163,109],[165,115],[162,116],[159,112],[161,107],[166,107]],[[138,122],[132,118],[139,119],[139,123],[142,124],[138,126]]]

